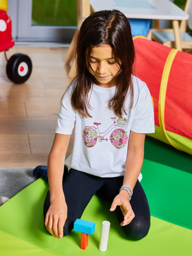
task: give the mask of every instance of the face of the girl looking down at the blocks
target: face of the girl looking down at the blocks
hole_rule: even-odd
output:
[[[115,86],[115,77],[120,66],[115,62],[113,51],[110,45],[103,44],[93,47],[90,52],[89,72],[95,77],[95,83],[101,87]]]

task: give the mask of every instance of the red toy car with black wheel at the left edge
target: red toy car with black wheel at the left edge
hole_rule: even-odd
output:
[[[0,52],[6,51],[13,47],[15,42],[12,39],[12,20],[7,15],[7,1],[0,1]],[[3,10],[2,10],[3,9]],[[28,80],[32,71],[32,62],[29,56],[22,53],[16,53],[7,60],[6,74],[15,84],[21,84]]]

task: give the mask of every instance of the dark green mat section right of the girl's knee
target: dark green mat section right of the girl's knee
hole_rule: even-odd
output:
[[[192,229],[192,174],[147,159],[141,172],[152,216]]]

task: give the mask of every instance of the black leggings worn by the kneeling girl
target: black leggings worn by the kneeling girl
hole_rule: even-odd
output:
[[[67,220],[63,228],[63,235],[66,236],[74,227],[74,221],[81,218],[83,211],[96,193],[112,204],[113,199],[118,195],[124,177],[100,178],[88,173],[65,167],[63,175],[63,192],[67,203]],[[123,228],[128,239],[138,240],[145,237],[150,227],[150,211],[145,192],[139,181],[136,182],[131,198],[131,207],[135,217]],[[44,218],[50,206],[50,193],[48,191],[44,204]],[[118,221],[122,222],[124,216],[120,207],[116,208]]]

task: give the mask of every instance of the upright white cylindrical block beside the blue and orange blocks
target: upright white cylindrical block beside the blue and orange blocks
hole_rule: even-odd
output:
[[[105,252],[108,248],[109,228],[110,228],[110,222],[106,220],[102,221],[100,243],[99,243],[99,250],[101,252]]]

